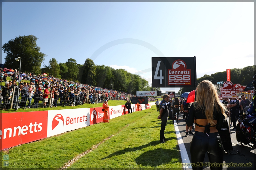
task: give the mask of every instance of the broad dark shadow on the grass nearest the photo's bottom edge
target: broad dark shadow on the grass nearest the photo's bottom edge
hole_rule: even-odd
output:
[[[135,161],[137,164],[143,166],[156,167],[169,163],[174,155],[177,155],[178,157],[179,152],[177,150],[157,148],[155,150],[144,152],[139,157],[137,157]]]

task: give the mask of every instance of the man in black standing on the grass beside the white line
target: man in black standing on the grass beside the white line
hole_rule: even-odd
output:
[[[165,130],[168,116],[169,116],[169,111],[168,111],[168,107],[167,107],[168,100],[169,100],[169,95],[165,94],[164,100],[162,100],[160,103],[160,112],[159,112],[160,115],[157,117],[157,119],[162,120],[161,130],[160,130],[160,143],[165,143],[164,140],[166,140],[164,137],[164,130]]]

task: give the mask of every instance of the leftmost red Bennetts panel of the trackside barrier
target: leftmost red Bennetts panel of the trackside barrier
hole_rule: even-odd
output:
[[[48,111],[2,113],[1,150],[47,137]]]

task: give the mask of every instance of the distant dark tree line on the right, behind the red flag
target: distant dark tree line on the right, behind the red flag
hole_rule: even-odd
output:
[[[230,81],[233,84],[241,84],[242,86],[247,86],[249,82],[253,80],[253,76],[256,74],[256,66],[247,66],[244,68],[233,68],[230,69]],[[227,72],[220,71],[211,75],[205,74],[204,76],[197,79],[197,84],[203,80],[210,80],[212,83],[217,84],[218,81],[227,81]],[[178,95],[184,92],[190,92],[195,90],[192,88],[180,88]]]

